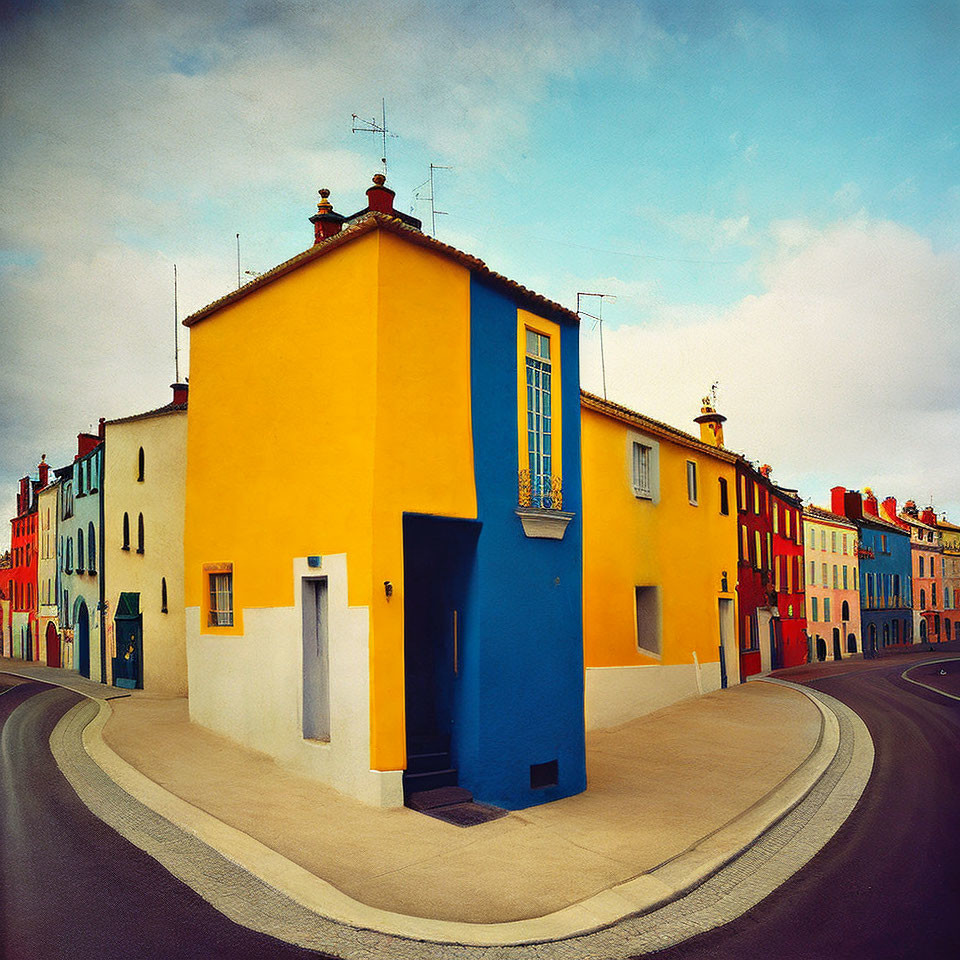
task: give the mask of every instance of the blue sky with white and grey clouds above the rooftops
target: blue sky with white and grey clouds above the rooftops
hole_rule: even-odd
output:
[[[384,100],[400,209],[448,167],[440,240],[608,295],[585,389],[960,521],[958,54],[955,0],[0,0],[0,513],[168,402],[174,264],[182,318],[365,206]]]

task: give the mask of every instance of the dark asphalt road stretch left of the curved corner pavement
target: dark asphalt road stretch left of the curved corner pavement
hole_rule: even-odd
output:
[[[48,745],[79,699],[0,678],[0,958],[321,957],[228,920],[90,813]]]

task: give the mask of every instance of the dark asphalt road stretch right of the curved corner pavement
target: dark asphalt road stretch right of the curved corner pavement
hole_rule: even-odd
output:
[[[780,674],[860,715],[876,749],[870,782],[833,839],[787,883],[657,960],[960,957],[960,701],[901,679],[917,662],[910,655]],[[956,675],[957,665],[947,669]]]

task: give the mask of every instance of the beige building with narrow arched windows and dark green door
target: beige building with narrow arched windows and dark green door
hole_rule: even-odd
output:
[[[183,509],[187,387],[166,406],[106,424],[107,673],[117,687],[187,693]]]

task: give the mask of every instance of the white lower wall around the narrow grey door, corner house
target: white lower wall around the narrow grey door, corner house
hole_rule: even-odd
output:
[[[302,579],[327,580],[330,740],[303,738]],[[188,607],[190,719],[364,803],[403,805],[403,772],[370,769],[370,616],[347,604],[347,558],[293,560],[294,606],[243,610],[243,636],[199,632]]]

